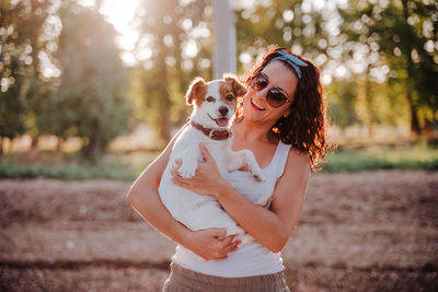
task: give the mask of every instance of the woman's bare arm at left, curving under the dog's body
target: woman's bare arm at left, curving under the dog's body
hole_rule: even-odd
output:
[[[168,164],[175,138],[136,179],[126,195],[126,201],[146,221],[172,241],[182,244],[205,259],[226,258],[227,254],[235,250],[237,245],[240,243],[232,242],[234,236],[222,238],[226,235],[224,229],[193,232],[173,219],[161,202],[158,186]]]

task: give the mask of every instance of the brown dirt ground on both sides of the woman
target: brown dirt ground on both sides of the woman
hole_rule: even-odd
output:
[[[0,180],[0,291],[160,291],[175,245],[129,183]],[[292,291],[438,291],[438,172],[313,174],[283,252]]]

